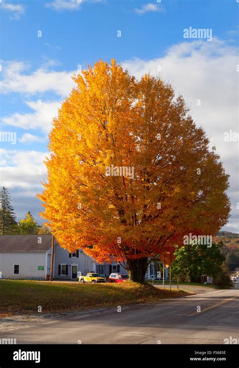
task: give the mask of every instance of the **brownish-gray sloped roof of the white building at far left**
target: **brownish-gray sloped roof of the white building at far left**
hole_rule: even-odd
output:
[[[51,238],[51,234],[0,235],[0,252],[46,252],[51,248]]]

